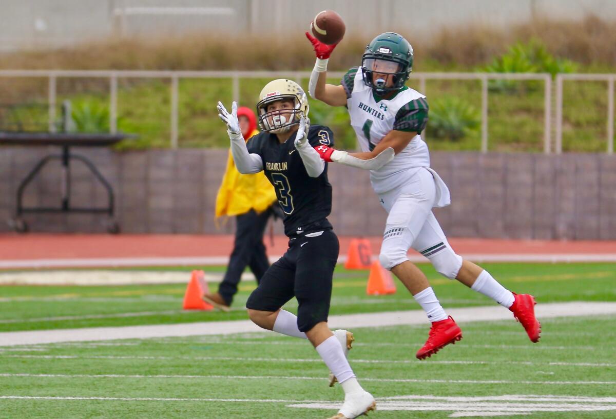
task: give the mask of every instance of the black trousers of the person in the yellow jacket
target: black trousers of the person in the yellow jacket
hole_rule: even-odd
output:
[[[227,265],[227,272],[218,287],[218,292],[228,305],[233,302],[233,295],[237,293],[237,284],[240,283],[241,274],[249,266],[257,279],[257,284],[261,277],[269,268],[269,261],[265,253],[263,244],[263,234],[267,220],[272,215],[272,208],[269,207],[262,213],[255,210],[237,215],[235,217],[237,226],[235,228],[235,242],[233,252]]]

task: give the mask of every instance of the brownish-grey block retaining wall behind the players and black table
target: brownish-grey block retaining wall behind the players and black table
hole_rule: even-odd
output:
[[[54,148],[0,148],[0,231],[12,217],[15,191],[36,161]],[[214,201],[227,150],[115,153],[78,149],[116,192],[124,233],[232,233],[217,229]],[[616,239],[616,159],[605,154],[432,153],[432,167],[452,191],[452,206],[435,213],[448,236],[522,239]],[[80,162],[71,167],[71,205],[104,206],[106,194]],[[25,194],[25,205],[59,206],[60,166],[52,162]],[[380,235],[386,213],[368,174],[330,164],[330,221],[341,235]],[[105,217],[28,214],[31,231],[104,232]],[[282,222],[275,225],[282,234]]]

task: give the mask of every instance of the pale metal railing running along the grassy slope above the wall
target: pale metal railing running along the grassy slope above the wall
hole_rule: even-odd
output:
[[[343,72],[328,72],[328,77],[341,78]],[[57,79],[59,78],[106,78],[109,80],[109,126],[115,134],[118,118],[118,78],[157,78],[171,81],[171,124],[170,142],[172,148],[178,146],[178,84],[179,79],[189,78],[229,78],[232,84],[233,100],[239,101],[240,79],[242,78],[293,78],[301,83],[310,77],[309,71],[134,71],[134,70],[0,70],[0,77],[47,78],[49,102],[49,130],[55,130],[55,109],[57,101]],[[434,80],[477,80],[481,82],[481,147],[482,153],[488,151],[488,81],[518,80],[543,81],[544,84],[544,125],[543,152],[549,154],[552,129],[552,79],[547,73],[411,73],[411,79],[419,83],[419,91],[426,94],[426,81]],[[562,153],[562,83],[564,80],[607,81],[607,153],[614,153],[614,80],[616,74],[557,74],[556,76],[556,118],[554,121],[556,138],[555,153]]]

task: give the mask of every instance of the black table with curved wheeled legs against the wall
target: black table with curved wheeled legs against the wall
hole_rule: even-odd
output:
[[[100,174],[99,170],[85,156],[71,153],[71,146],[79,147],[103,147],[113,145],[124,138],[134,138],[130,134],[79,134],[79,133],[54,133],[54,132],[0,132],[0,145],[18,145],[18,146],[60,146],[62,147],[61,154],[49,154],[41,159],[30,173],[22,180],[17,188],[17,209],[15,218],[9,220],[10,225],[15,231],[25,233],[28,231],[28,225],[23,220],[24,213],[43,213],[43,212],[80,212],[80,213],[107,213],[109,220],[107,223],[107,231],[109,233],[118,233],[120,225],[113,217],[113,188],[107,179]],[[62,162],[62,197],[60,207],[23,207],[23,191],[26,186],[36,177],[36,174],[47,164],[47,162],[59,159]],[[107,190],[108,205],[106,207],[71,207],[70,205],[70,161],[72,159],[79,160],[86,165],[92,172],[95,178]]]

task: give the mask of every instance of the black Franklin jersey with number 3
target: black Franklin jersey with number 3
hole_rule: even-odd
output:
[[[319,177],[309,177],[304,162],[294,145],[295,135],[284,143],[275,134],[261,132],[248,140],[248,153],[259,154],[267,179],[274,185],[278,204],[285,213],[285,234],[310,233],[331,229],[326,219],[331,212],[331,185],[327,179],[327,163]],[[310,145],[333,146],[334,135],[328,127],[310,126]]]

